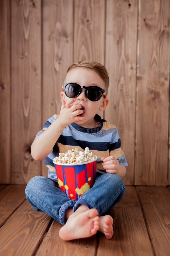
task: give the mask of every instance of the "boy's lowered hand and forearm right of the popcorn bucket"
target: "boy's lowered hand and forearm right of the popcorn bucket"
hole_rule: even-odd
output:
[[[102,157],[103,168],[106,169],[106,172],[114,173],[123,178],[126,174],[126,167],[122,164],[119,164],[119,161],[114,156]]]

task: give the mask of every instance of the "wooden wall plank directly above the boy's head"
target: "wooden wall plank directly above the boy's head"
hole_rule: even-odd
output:
[[[74,61],[104,65],[105,1],[74,1]]]

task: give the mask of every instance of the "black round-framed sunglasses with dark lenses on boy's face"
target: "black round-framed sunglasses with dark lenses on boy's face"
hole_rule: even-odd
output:
[[[85,95],[88,100],[97,101],[100,100],[101,96],[104,94],[106,98],[105,90],[98,86],[80,86],[76,83],[67,83],[63,84],[62,90],[65,92],[65,95],[69,98],[76,98],[82,92],[82,88],[85,88]]]

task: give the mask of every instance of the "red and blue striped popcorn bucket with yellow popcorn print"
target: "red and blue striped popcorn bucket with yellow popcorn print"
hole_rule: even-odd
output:
[[[95,160],[80,164],[59,164],[56,168],[58,187],[70,198],[78,200],[82,194],[93,187],[96,178]]]

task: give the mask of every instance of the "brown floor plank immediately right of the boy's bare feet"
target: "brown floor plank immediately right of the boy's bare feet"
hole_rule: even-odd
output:
[[[100,234],[97,256],[154,255],[134,187],[126,187],[125,195],[114,211],[114,236],[108,240]]]

